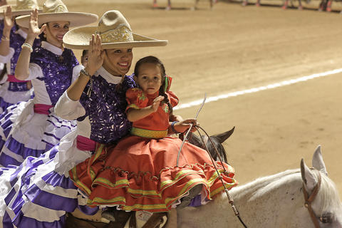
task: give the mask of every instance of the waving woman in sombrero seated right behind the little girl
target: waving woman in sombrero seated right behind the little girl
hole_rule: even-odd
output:
[[[115,144],[129,133],[125,91],[135,82],[125,74],[132,63],[132,49],[167,44],[133,33],[119,11],[106,12],[98,26],[69,31],[63,41],[66,48],[89,49],[87,67],[55,105],[61,118],[77,120],[77,129],[41,157],[27,157],[19,167],[0,169],[3,224],[63,227],[66,212],[76,208],[83,214],[98,212],[97,207],[86,206],[68,171],[96,148]]]

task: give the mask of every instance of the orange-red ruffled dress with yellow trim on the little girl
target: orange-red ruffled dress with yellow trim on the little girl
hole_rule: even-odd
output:
[[[130,89],[128,108],[151,105],[157,95]],[[170,91],[167,95],[171,105],[177,105],[177,96]],[[185,142],[176,165],[182,140],[167,136],[168,127],[168,107],[162,103],[157,112],[133,123],[131,136],[115,147],[100,146],[92,157],[70,170],[76,186],[88,195],[88,204],[167,212],[196,185],[204,186],[202,195],[207,199],[222,192],[222,182],[205,150]],[[221,162],[217,167],[227,189],[237,185],[233,167]]]

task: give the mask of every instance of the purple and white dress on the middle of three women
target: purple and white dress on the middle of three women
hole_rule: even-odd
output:
[[[58,52],[59,51],[59,52]],[[31,54],[30,74],[35,96],[9,106],[0,115],[0,165],[20,165],[26,157],[39,157],[76,127],[54,113],[58,98],[78,76],[82,66],[69,49],[43,41]]]

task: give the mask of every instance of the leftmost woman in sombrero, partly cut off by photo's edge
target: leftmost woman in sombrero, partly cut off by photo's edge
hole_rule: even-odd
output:
[[[21,51],[21,45],[27,36],[27,28],[15,24],[14,17],[30,14],[33,9],[38,9],[36,1],[16,1],[16,5],[5,5],[0,7],[4,12],[4,20],[0,22],[0,63],[6,67],[0,76],[0,114],[7,107],[20,101],[27,101],[33,95],[30,81],[19,81],[14,77],[16,61]],[[33,43],[33,48],[40,46],[40,40]]]

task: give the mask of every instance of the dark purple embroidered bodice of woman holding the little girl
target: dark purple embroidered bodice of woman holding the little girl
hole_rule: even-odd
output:
[[[108,74],[103,70],[103,74]],[[108,76],[106,76],[108,78]],[[110,77],[110,76],[109,76]],[[113,76],[112,76],[113,77]],[[100,143],[118,141],[129,133],[131,123],[125,114],[125,91],[135,87],[132,76],[125,76],[121,84],[110,83],[104,75],[93,76],[93,89],[90,98],[87,95],[90,82],[81,95],[80,103],[86,115],[78,118],[90,122],[90,139]],[[118,88],[119,85],[119,88]]]

